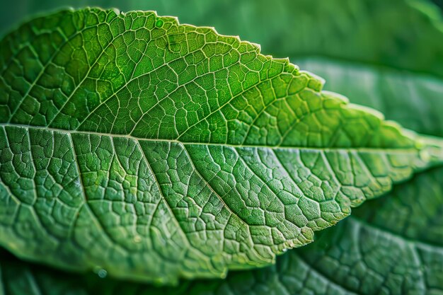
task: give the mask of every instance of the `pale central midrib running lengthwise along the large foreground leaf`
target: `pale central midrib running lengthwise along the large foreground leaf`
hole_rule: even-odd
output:
[[[22,124],[12,124],[12,123],[0,123],[0,127],[18,127],[25,129],[42,129],[51,132],[64,132],[68,134],[88,134],[97,135],[105,137],[121,137],[127,139],[133,139],[135,141],[153,141],[153,142],[168,142],[183,145],[203,145],[203,146],[226,146],[231,148],[254,148],[254,149],[294,149],[294,150],[308,150],[308,151],[359,151],[359,152],[374,152],[374,151],[385,151],[385,152],[395,152],[395,153],[416,153],[419,151],[418,148],[411,146],[410,148],[384,148],[384,147],[318,147],[318,146],[266,146],[266,145],[252,145],[252,144],[220,144],[220,143],[205,143],[205,142],[190,142],[190,141],[178,141],[176,139],[152,139],[143,137],[134,137],[129,134],[112,134],[103,132],[93,132],[85,130],[67,130],[59,129],[53,127],[44,126],[33,126],[33,125],[22,125]]]

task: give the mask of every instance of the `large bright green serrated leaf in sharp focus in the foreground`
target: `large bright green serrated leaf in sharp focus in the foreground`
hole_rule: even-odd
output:
[[[287,59],[152,12],[62,11],[0,42],[0,245],[173,284],[274,262],[443,160]]]

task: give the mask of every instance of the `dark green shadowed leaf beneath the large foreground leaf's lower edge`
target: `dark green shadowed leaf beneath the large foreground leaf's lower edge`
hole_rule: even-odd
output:
[[[442,178],[442,168],[418,175],[359,207],[315,243],[278,258],[277,265],[231,272],[224,280],[159,288],[60,273],[2,255],[0,284],[10,295],[437,295],[443,291]]]

